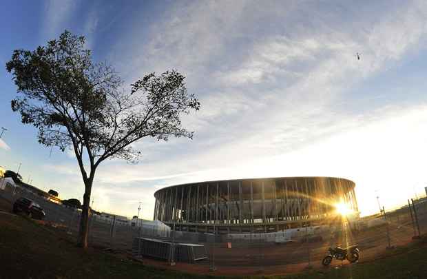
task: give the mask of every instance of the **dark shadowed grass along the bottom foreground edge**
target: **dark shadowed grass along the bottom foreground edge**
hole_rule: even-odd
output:
[[[363,251],[362,251],[363,253]],[[362,254],[363,255],[363,254]],[[265,268],[266,270],[268,267]],[[154,267],[96,249],[21,216],[0,213],[0,278],[206,278]],[[253,278],[259,278],[254,276]],[[267,276],[267,278],[270,278]],[[395,249],[375,262],[271,278],[427,278],[427,241]]]

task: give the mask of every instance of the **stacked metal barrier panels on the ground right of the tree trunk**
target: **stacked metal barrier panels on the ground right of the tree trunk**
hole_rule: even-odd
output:
[[[175,247],[175,249],[173,249]],[[174,259],[172,251],[175,250]],[[152,238],[134,238],[132,245],[132,255],[134,257],[145,256],[158,258],[161,260],[178,262],[195,262],[196,260],[207,259],[205,245],[189,243],[171,243]]]

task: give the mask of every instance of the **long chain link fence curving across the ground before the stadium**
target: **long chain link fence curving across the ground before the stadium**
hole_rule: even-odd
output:
[[[52,203],[19,187],[0,189],[0,198],[12,204],[17,198],[34,200],[45,210],[45,221],[54,227],[77,236],[81,210]],[[408,205],[382,210],[375,216],[361,218],[357,227],[343,221],[335,228],[302,227],[293,237],[284,237],[286,231],[256,234],[213,234],[173,231],[169,227],[152,229],[143,221],[104,218],[90,215],[88,242],[94,247],[113,249],[132,254],[132,243],[136,238],[152,238],[171,243],[205,245],[208,261],[197,262],[211,269],[256,269],[263,273],[268,269],[293,267],[295,265],[320,265],[329,247],[359,245],[360,260],[372,259],[388,248],[405,245],[415,236],[427,233],[427,197],[409,200]],[[140,222],[140,223],[138,223]],[[173,228],[172,228],[173,229]],[[282,234],[282,236],[281,236]]]

